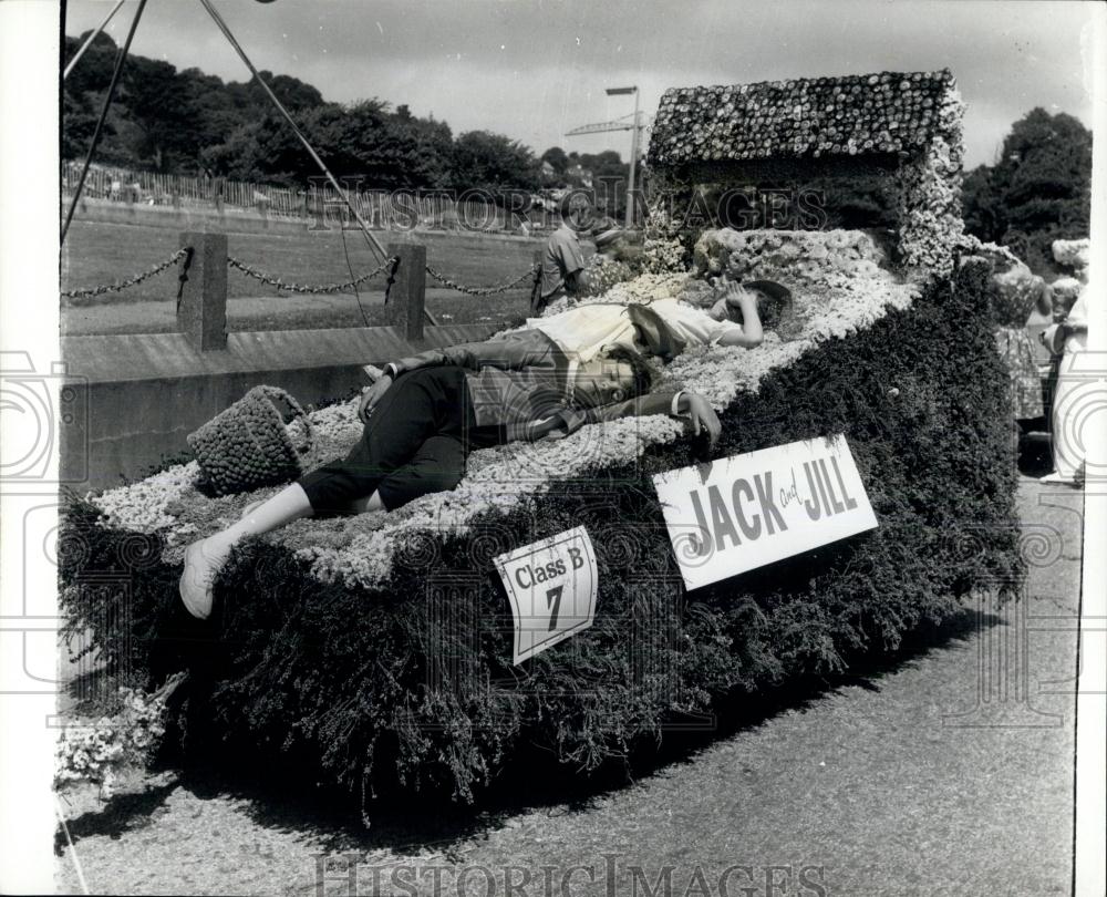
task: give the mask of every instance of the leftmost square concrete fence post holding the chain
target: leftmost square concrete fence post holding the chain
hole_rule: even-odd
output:
[[[185,231],[192,248],[177,300],[177,330],[201,352],[227,348],[227,235]],[[179,268],[178,268],[179,270]]]

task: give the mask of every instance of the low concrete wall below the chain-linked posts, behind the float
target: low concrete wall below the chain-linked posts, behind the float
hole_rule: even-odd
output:
[[[318,403],[368,383],[363,364],[482,340],[494,329],[428,327],[417,342],[391,327],[230,333],[225,350],[206,352],[182,333],[65,337],[72,392],[60,430],[62,481],[85,492],[138,477],[185,451],[186,435],[259,383]]]

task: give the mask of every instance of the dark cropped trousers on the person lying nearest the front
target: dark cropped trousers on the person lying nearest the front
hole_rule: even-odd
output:
[[[343,461],[299,480],[317,513],[342,513],[376,492],[389,511],[454,488],[473,445],[494,434],[475,427],[463,368],[402,374],[373,409],[361,440]]]

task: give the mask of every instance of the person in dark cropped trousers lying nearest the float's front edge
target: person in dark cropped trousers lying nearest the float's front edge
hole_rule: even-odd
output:
[[[453,489],[473,448],[563,437],[584,424],[633,415],[685,417],[712,446],[721,432],[702,395],[651,392],[655,370],[622,346],[570,360],[545,334],[523,331],[423,352],[390,368],[365,391],[362,435],[344,460],[306,474],[248,507],[238,523],[188,546],[179,592],[189,614],[211,614],[216,575],[247,536],[315,514],[394,511]]]

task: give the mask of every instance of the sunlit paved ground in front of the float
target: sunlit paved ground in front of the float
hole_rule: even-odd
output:
[[[633,784],[475,818],[392,811],[365,832],[163,773],[103,806],[71,797],[87,886],[433,894],[437,875],[443,894],[504,894],[525,866],[519,895],[1066,894],[1083,496],[1024,480],[1020,502],[1037,561],[1022,602]],[[58,868],[77,890],[64,846]]]

